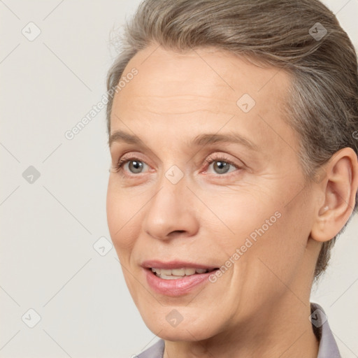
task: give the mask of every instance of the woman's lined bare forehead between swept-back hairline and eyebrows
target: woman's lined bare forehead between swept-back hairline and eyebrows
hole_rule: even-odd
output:
[[[255,66],[215,48],[174,52],[158,45],[139,51],[122,78],[134,68],[138,74],[115,94],[111,133],[130,123],[131,129],[166,127],[168,138],[186,130],[189,139],[225,126],[280,150],[278,136],[294,145],[280,110],[290,83],[285,71]],[[244,102],[252,107],[248,112],[240,107]]]

